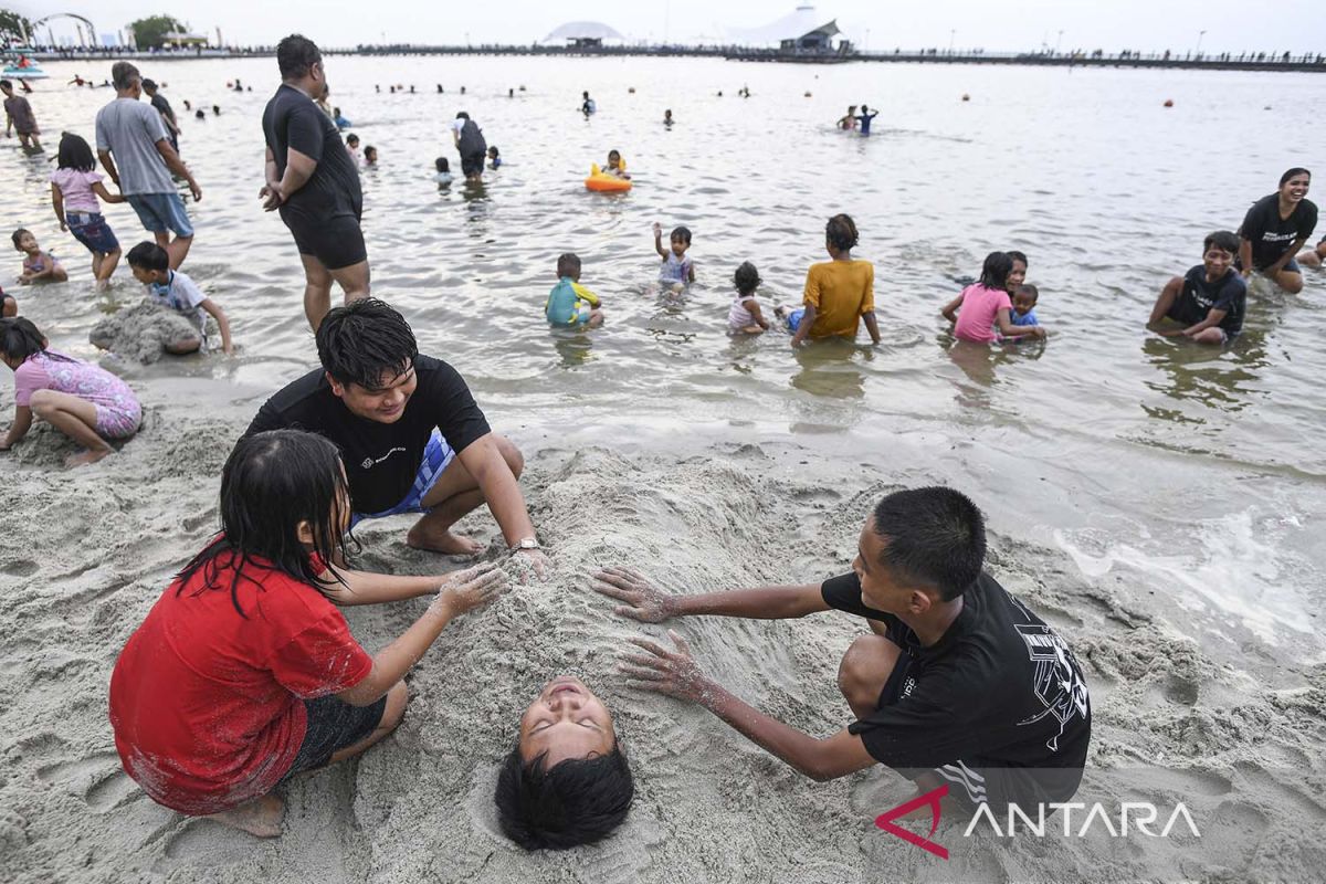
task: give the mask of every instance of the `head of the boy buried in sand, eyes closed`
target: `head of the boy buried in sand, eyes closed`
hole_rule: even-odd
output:
[[[579,679],[549,681],[497,777],[501,830],[525,850],[590,844],[626,819],[634,795],[611,713]]]

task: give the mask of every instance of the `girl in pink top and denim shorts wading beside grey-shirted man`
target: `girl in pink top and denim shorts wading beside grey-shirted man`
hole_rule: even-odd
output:
[[[60,219],[60,229],[73,233],[91,252],[91,274],[97,288],[105,288],[119,264],[119,240],[106,224],[97,197],[107,203],[123,203],[125,197],[106,190],[91,147],[73,133],[60,137],[56,164],[56,171],[50,174],[50,201]]]

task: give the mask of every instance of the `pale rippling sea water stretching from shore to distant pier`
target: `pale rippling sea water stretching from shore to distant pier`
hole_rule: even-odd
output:
[[[256,410],[316,359],[294,245],[257,196],[276,61],[141,68],[166,83],[203,188],[184,269],[224,306],[240,353],[145,367],[88,345],[94,322],[139,289],[122,264],[107,294],[93,292],[46,176],[58,133],[93,140],[114,97],[65,81],[99,82],[109,64],[46,65],[52,78],[30,97],[45,155],[0,142],[5,221],[33,229],[72,272],[66,285],[20,289],[13,253],[5,288],[53,346],[134,384]],[[326,68],[333,103],[379,151],[363,174],[374,293],[517,441],[638,448],[684,469],[696,452],[793,440],[810,473],[817,457],[854,459],[870,480],[968,492],[1000,537],[1113,575],[1124,598],[1172,608],[1216,656],[1326,660],[1326,274],[1309,270],[1297,297],[1256,292],[1229,349],[1143,327],[1163,284],[1200,262],[1205,233],[1236,229],[1285,168],[1319,162],[1326,77],[695,58],[329,57]],[[228,90],[236,77],[252,91]],[[389,94],[392,83],[416,93]],[[599,109],[587,121],[582,90]],[[194,119],[186,99],[221,113]],[[870,138],[834,129],[850,103],[880,111]],[[446,125],[460,110],[507,164],[483,187],[439,188],[435,156],[459,172]],[[627,195],[582,186],[610,148],[635,176]],[[875,264],[883,343],[793,354],[778,331],[727,337],[736,266],[758,266],[766,311],[798,301],[837,212],[857,220],[855,257]],[[129,207],[107,215],[126,250],[146,239]],[[655,282],[655,221],[693,232],[697,282],[684,296]],[[987,252],[1010,248],[1030,257],[1052,337],[955,346],[939,307]],[[603,298],[607,321],[589,334],[542,318],[566,250]]]

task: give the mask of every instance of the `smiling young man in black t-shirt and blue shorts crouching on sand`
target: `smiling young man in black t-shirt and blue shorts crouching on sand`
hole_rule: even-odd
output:
[[[479,553],[451,526],[487,501],[508,547],[542,574],[548,562],[516,484],[524,460],[488,428],[456,370],[419,355],[404,318],[377,298],[330,310],[317,345],[322,367],[268,399],[244,435],[326,436],[341,449],[351,524],[423,513],[406,537],[416,549]]]

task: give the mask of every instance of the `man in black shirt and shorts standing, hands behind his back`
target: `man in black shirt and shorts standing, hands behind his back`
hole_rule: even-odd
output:
[[[313,330],[332,309],[333,280],[349,304],[369,296],[369,252],[359,219],[359,170],[335,123],[313,103],[328,91],[322,53],[290,34],[276,48],[281,86],[263,111],[268,212],[281,211],[304,262],[304,314]]]

